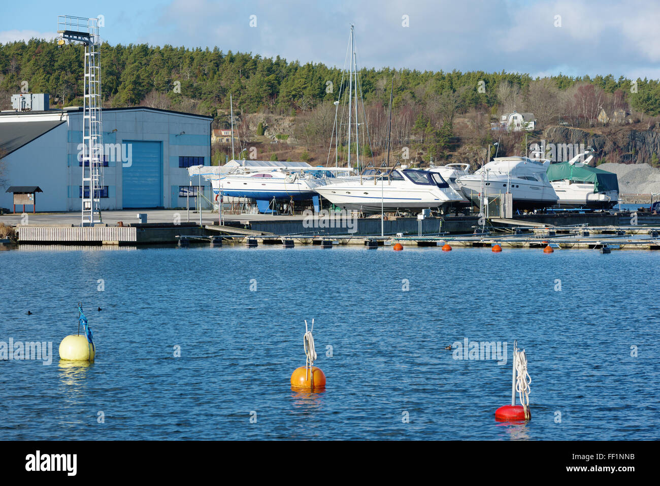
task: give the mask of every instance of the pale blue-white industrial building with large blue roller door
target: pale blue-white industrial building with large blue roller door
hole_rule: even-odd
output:
[[[213,118],[142,106],[102,116],[101,209],[185,207],[186,195],[197,193],[188,166],[211,164]],[[12,207],[9,186],[39,186],[37,211],[80,211],[81,149],[82,108],[1,112],[0,207]]]

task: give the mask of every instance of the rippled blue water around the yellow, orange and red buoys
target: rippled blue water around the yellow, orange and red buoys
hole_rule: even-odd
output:
[[[0,341],[53,341],[55,353],[50,366],[0,361],[0,436],[657,439],[659,265],[660,252],[506,248],[0,252]],[[79,300],[98,355],[63,365]],[[312,318],[327,388],[296,393]],[[506,365],[444,351],[466,337],[508,341]],[[532,378],[527,425],[494,421],[513,339]]]

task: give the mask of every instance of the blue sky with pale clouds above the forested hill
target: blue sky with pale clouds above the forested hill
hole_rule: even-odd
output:
[[[660,78],[653,1],[22,1],[3,5],[0,42],[52,37],[63,14],[103,15],[111,44],[218,46],[341,67],[353,23],[358,66]]]

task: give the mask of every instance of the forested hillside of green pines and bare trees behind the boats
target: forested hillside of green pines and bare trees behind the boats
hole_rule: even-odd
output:
[[[47,92],[51,104],[82,104],[82,46],[30,40],[0,46],[0,103],[10,108],[11,94],[27,81],[30,92]],[[261,142],[265,158],[277,157],[281,147],[266,147],[269,140],[302,147],[321,161],[332,133],[334,106],[342,70],[323,64],[263,58],[251,53],[222,52],[219,48],[189,50],[144,44],[101,49],[105,106],[153,106],[196,112],[215,118],[215,127],[229,126],[229,99],[242,127],[242,144]],[[532,79],[523,73],[481,71],[416,71],[362,69],[364,115],[374,153],[387,138],[387,104],[394,78],[392,140],[395,149],[410,147],[413,154],[429,157],[473,157],[500,134],[490,130],[499,114],[532,112],[537,119],[534,136],[558,124],[593,129],[603,125],[635,125],[653,129],[660,115],[657,80],[614,79],[612,75]],[[607,121],[599,120],[604,110]],[[623,110],[625,117],[611,115]],[[259,139],[249,115],[266,116]],[[292,118],[290,133],[276,133],[274,125]],[[643,125],[641,126],[640,123]],[[269,131],[269,127],[271,130]],[[281,135],[277,137],[277,135]],[[276,138],[277,137],[277,138]],[[360,142],[362,144],[362,141]],[[277,144],[273,144],[277,145]],[[520,137],[505,134],[503,151],[519,151]],[[288,147],[291,149],[292,147]],[[215,153],[218,153],[215,147]],[[220,150],[221,151],[221,150]],[[414,158],[414,156],[413,156]],[[325,157],[323,160],[325,161]]]

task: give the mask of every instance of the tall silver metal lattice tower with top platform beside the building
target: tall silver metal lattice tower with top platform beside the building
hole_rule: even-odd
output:
[[[84,44],[84,98],[82,111],[81,226],[101,223],[104,145],[101,118],[101,65],[98,18],[57,17],[57,44]]]

